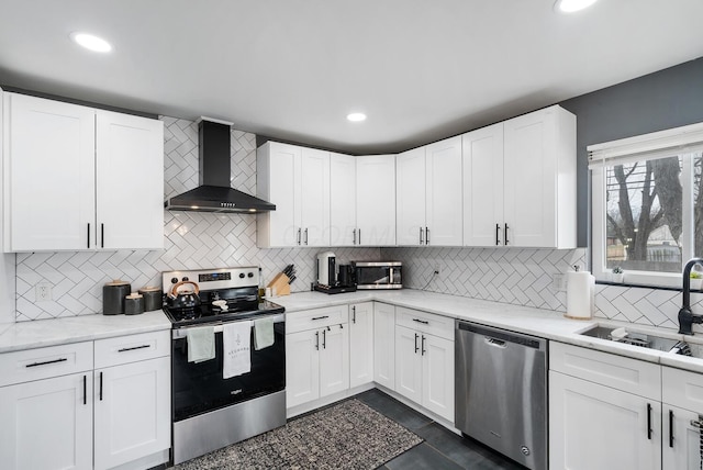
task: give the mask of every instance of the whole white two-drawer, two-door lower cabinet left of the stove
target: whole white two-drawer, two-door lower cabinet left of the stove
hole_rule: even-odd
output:
[[[0,355],[0,468],[166,462],[169,356],[169,331]]]

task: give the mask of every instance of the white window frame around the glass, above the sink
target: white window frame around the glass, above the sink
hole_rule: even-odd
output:
[[[606,255],[606,169],[615,165],[679,156],[682,159],[682,268],[693,257],[693,182],[696,152],[703,150],[703,123],[692,124],[635,137],[590,145],[591,170],[591,271],[599,281],[610,281]],[[649,287],[680,288],[681,272],[626,270],[625,282]]]

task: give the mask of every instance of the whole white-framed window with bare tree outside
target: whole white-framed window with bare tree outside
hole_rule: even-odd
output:
[[[681,286],[703,257],[703,123],[589,146],[593,273]]]

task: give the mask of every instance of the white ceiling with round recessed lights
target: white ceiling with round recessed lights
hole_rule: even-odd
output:
[[[703,56],[703,1],[0,0],[0,83],[394,153]],[[78,48],[74,31],[114,47]],[[352,111],[368,120],[347,122]]]

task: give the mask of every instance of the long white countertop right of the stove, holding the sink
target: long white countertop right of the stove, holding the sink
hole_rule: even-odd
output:
[[[422,310],[482,325],[703,373],[703,359],[684,357],[580,334],[599,324],[612,326],[613,328],[622,326],[629,331],[684,340],[692,346],[695,345],[695,347],[703,348],[703,336],[679,335],[676,331],[667,328],[647,327],[632,323],[613,322],[605,318],[592,318],[588,321],[571,320],[566,318],[563,312],[412,289],[398,291],[357,291],[332,295],[322,292],[300,292],[286,296],[271,298],[270,300],[283,305],[286,313],[291,315],[294,315],[295,312],[299,311],[324,306],[368,301],[386,302],[397,306]]]

